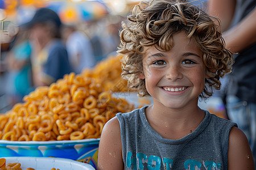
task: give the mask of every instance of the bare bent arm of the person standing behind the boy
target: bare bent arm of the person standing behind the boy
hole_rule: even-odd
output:
[[[236,1],[234,0],[208,1],[209,14],[221,20],[221,32],[223,32],[226,48],[234,53],[239,53],[256,42],[256,8],[240,23],[228,29],[235,7]]]

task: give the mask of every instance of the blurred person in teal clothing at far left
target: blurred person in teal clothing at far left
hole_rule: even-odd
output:
[[[19,29],[5,58],[7,64],[6,95],[11,105],[19,103],[32,90],[31,44],[28,31]]]

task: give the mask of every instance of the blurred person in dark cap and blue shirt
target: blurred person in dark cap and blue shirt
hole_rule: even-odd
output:
[[[32,80],[35,87],[48,86],[73,71],[60,38],[61,24],[56,12],[40,8],[30,22],[21,25],[30,29]]]

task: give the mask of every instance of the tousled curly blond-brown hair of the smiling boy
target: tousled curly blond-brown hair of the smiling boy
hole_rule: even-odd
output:
[[[142,73],[144,47],[155,45],[158,49],[168,51],[172,48],[168,40],[175,33],[184,31],[188,38],[194,38],[201,49],[201,56],[206,66],[205,87],[200,97],[206,99],[213,94],[213,88],[220,89],[220,77],[229,73],[232,53],[225,49],[224,39],[217,25],[199,7],[190,3],[172,0],[155,0],[141,2],[127,16],[129,22],[122,23],[121,44],[118,53],[123,54],[122,78],[128,80],[129,89],[137,89],[139,96],[148,96],[145,80],[139,79]]]

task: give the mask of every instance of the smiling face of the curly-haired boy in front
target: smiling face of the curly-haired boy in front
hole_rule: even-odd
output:
[[[184,32],[173,36],[174,46],[162,52],[151,46],[143,57],[143,73],[148,93],[154,105],[168,108],[183,108],[197,105],[205,85],[205,66],[201,51],[194,39]]]

